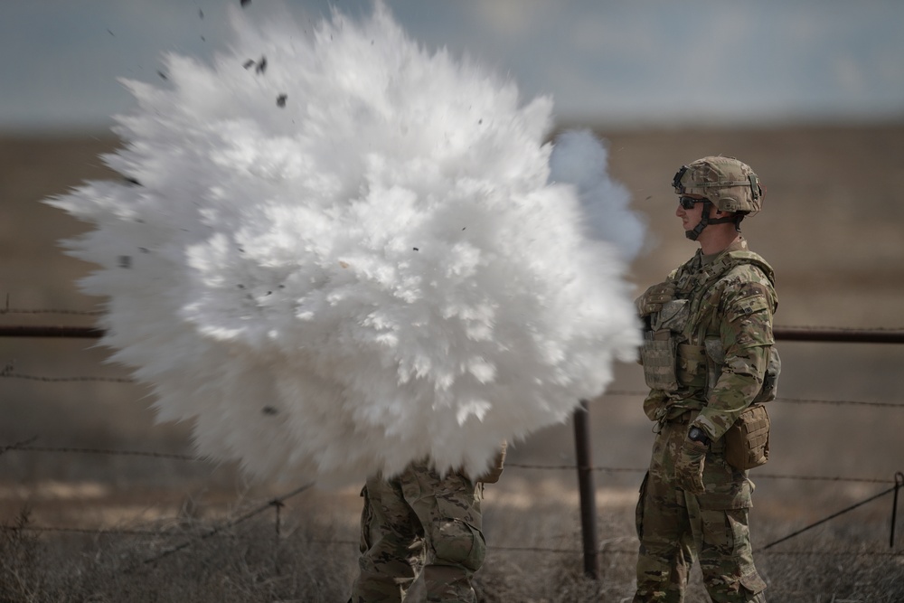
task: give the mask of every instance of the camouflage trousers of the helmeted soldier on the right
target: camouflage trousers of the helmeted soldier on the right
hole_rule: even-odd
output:
[[[657,434],[650,469],[637,503],[635,603],[680,603],[694,560],[703,583],[719,603],[765,603],[766,583],[753,563],[748,524],[753,483],[731,467],[714,442],[703,465],[702,495],[685,493],[674,480],[674,459],[687,437],[688,421],[665,423]]]

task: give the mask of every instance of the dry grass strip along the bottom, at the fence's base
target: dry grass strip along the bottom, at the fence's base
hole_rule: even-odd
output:
[[[556,486],[542,487],[548,492]],[[334,495],[333,503],[347,506],[350,496]],[[523,509],[507,504],[508,496],[489,496],[485,505],[490,553],[476,577],[478,600],[630,600],[636,562],[630,507],[600,509],[601,578],[592,580],[583,575],[577,551],[576,509],[555,500]],[[344,601],[356,569],[356,526],[336,521],[328,511],[330,500],[321,493],[289,505],[280,514],[278,532],[270,512],[235,522],[256,505],[251,501],[216,516],[184,510],[171,519],[87,534],[30,531],[29,513],[23,511],[0,532],[0,601]],[[779,546],[779,551],[760,551],[758,566],[770,585],[769,601],[904,600],[904,556],[890,554],[886,526],[875,521],[876,511],[865,513]],[[344,519],[350,519],[348,513]],[[800,527],[769,515],[755,515],[754,521],[760,528],[758,542]],[[695,570],[687,602],[708,600]]]

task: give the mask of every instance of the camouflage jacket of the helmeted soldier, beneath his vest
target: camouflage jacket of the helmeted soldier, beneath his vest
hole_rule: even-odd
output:
[[[677,299],[687,300],[686,320],[673,334],[679,386],[651,390],[644,410],[653,420],[700,410],[693,424],[715,440],[762,389],[775,344],[775,276],[740,239],[712,256],[698,250],[667,282],[675,285]]]

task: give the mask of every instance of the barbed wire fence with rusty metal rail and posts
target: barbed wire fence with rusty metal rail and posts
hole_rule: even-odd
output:
[[[5,307],[0,307],[0,316],[3,315],[31,315],[31,316],[42,316],[42,315],[69,315],[69,316],[99,316],[100,312],[96,311],[78,311],[78,310],[62,310],[62,309],[38,309],[38,310],[27,310],[27,309],[17,309],[9,307],[8,297],[6,300]],[[93,326],[70,326],[70,325],[0,325],[0,337],[73,337],[73,338],[99,338],[104,334],[102,329]],[[776,338],[777,340],[787,340],[787,341],[811,341],[811,342],[834,342],[834,343],[880,343],[880,344],[904,344],[904,328],[874,328],[874,329],[850,329],[843,327],[784,327],[784,328],[776,328]],[[6,362],[3,365],[3,368],[0,369],[0,381],[3,380],[24,380],[24,381],[32,381],[32,382],[43,382],[43,383],[71,383],[71,382],[112,382],[112,383],[132,383],[134,380],[129,378],[120,378],[120,377],[107,377],[107,376],[90,376],[90,375],[75,375],[75,376],[49,376],[49,375],[41,375],[41,374],[30,374],[24,372],[17,372],[15,370],[15,363],[10,361]],[[643,397],[645,396],[645,391],[607,391],[607,396],[621,396],[621,397]],[[789,404],[821,404],[821,405],[833,405],[833,406],[858,406],[858,407],[872,407],[883,410],[904,410],[904,402],[887,402],[887,401],[875,401],[875,400],[817,400],[817,399],[799,399],[799,398],[785,398],[779,396],[777,401],[789,403]],[[615,538],[609,539],[602,542],[598,542],[596,523],[595,523],[595,514],[596,514],[596,503],[593,499],[592,492],[594,490],[592,476],[600,473],[636,473],[643,474],[646,469],[638,468],[638,467],[614,467],[614,466],[592,466],[592,463],[589,461],[589,447],[585,447],[581,444],[580,440],[586,437],[581,435],[579,432],[581,429],[587,429],[586,424],[581,425],[582,423],[582,415],[586,417],[589,414],[589,410],[587,408],[586,402],[582,405],[582,407],[576,411],[575,413],[575,438],[576,438],[576,452],[577,452],[577,462],[574,465],[536,465],[536,464],[519,464],[509,462],[506,464],[506,467],[512,469],[519,470],[540,470],[540,471],[569,471],[569,472],[577,472],[579,476],[579,491],[581,498],[581,523],[582,523],[582,537],[583,537],[583,546],[580,549],[565,549],[559,547],[539,547],[539,546],[494,546],[493,549],[495,551],[507,551],[507,552],[526,552],[526,553],[552,553],[552,554],[583,554],[584,555],[584,565],[585,565],[585,573],[592,578],[598,578],[598,556],[601,554],[627,554],[634,555],[636,554],[636,548],[630,550],[622,550],[622,549],[613,549],[609,545],[613,542],[619,542],[625,540],[624,538]],[[73,447],[52,447],[52,446],[37,446],[35,445],[35,441],[37,437],[30,437],[18,442],[11,443],[3,443],[0,442],[0,456],[10,453],[24,453],[24,454],[40,454],[40,453],[50,453],[50,454],[65,454],[65,455],[104,455],[104,456],[121,456],[121,457],[149,457],[156,459],[168,459],[175,461],[183,461],[187,463],[193,462],[205,462],[203,459],[198,457],[193,457],[190,455],[179,455],[179,454],[171,454],[171,453],[161,453],[155,451],[146,451],[146,450],[119,450],[119,449],[108,449],[108,448],[73,448]],[[823,482],[846,482],[846,483],[860,483],[860,484],[872,484],[872,485],[888,485],[886,489],[870,495],[862,500],[851,504],[844,509],[837,511],[835,513],[831,513],[826,517],[816,521],[815,523],[810,523],[805,527],[796,530],[795,532],[791,532],[786,536],[779,538],[773,542],[769,542],[764,546],[758,548],[758,552],[767,553],[767,554],[775,554],[775,555],[786,555],[786,556],[858,556],[858,557],[904,557],[904,551],[895,551],[895,532],[896,532],[896,523],[897,523],[897,509],[899,504],[899,493],[902,488],[904,488],[904,473],[897,472],[894,476],[891,477],[851,477],[851,476],[800,476],[800,475],[783,475],[783,474],[769,474],[769,473],[758,473],[759,479],[786,479],[786,480],[797,480],[797,481],[823,481]],[[253,517],[257,517],[262,513],[267,513],[268,511],[272,511],[274,513],[274,521],[275,521],[275,532],[277,536],[280,532],[280,524],[281,524],[281,509],[286,504],[286,501],[305,492],[309,489],[313,484],[302,485],[292,491],[289,491],[283,495],[279,495],[271,498],[264,504],[259,504],[249,511],[240,514],[240,516],[236,518],[231,518],[227,520],[223,520],[220,523],[216,523],[211,528],[194,534],[192,536],[186,536],[183,533],[174,532],[173,535],[179,535],[184,538],[183,542],[176,544],[172,547],[166,548],[164,551],[160,551],[152,557],[148,557],[144,560],[146,564],[153,564],[156,561],[160,561],[165,557],[168,557],[176,552],[184,551],[189,549],[193,543],[201,542],[202,540],[206,540],[209,538],[223,536],[228,533],[228,531],[237,526],[240,523],[244,523],[250,520]],[[829,522],[837,517],[842,516],[845,513],[850,513],[857,508],[862,507],[865,504],[870,504],[874,501],[885,498],[886,496],[891,495],[892,504],[891,504],[891,513],[890,513],[890,538],[889,538],[889,547],[890,551],[814,551],[814,550],[801,550],[801,551],[771,551],[773,546],[777,545],[780,542],[786,542],[795,538],[796,536],[807,532],[818,525]],[[118,529],[118,528],[80,528],[80,527],[71,527],[71,526],[52,526],[52,525],[31,525],[31,524],[21,524],[21,523],[6,523],[3,521],[0,523],[0,531],[10,532],[10,531],[29,531],[29,532],[52,532],[52,533],[81,533],[81,534],[90,534],[90,535],[113,535],[113,536],[123,536],[123,537],[152,537],[159,538],[161,535],[165,535],[165,530],[162,532],[161,529],[155,530],[134,530],[134,529]],[[319,542],[313,540],[312,542]],[[356,545],[356,541],[345,541],[345,540],[324,540],[322,543],[324,544],[346,544],[346,545]]]

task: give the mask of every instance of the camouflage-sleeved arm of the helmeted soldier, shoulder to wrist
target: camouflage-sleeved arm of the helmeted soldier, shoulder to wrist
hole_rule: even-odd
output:
[[[694,424],[711,439],[721,438],[757,397],[769,360],[774,294],[766,283],[728,285],[722,295],[720,339],[725,363]]]

